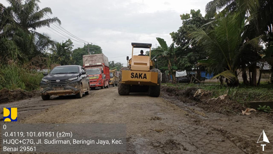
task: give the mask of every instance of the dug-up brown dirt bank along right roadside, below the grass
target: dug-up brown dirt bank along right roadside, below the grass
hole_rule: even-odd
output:
[[[225,99],[210,99],[211,93],[206,92],[204,95],[197,95],[194,97],[194,94],[198,88],[190,87],[184,90],[177,89],[175,87],[163,86],[162,91],[167,92],[169,96],[175,96],[178,100],[183,101],[189,105],[197,105],[198,107],[211,112],[217,113],[230,113],[230,112],[241,112],[245,107],[237,102],[234,102],[225,97]]]

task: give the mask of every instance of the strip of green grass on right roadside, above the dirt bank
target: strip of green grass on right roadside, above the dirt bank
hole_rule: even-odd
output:
[[[170,87],[177,87],[184,90],[189,87],[196,87],[198,89],[209,90],[212,93],[212,97],[218,97],[220,95],[227,94],[232,100],[243,103],[248,101],[267,101],[273,100],[273,84],[267,82],[261,82],[260,86],[246,86],[240,84],[238,87],[227,87],[226,85],[220,85],[219,83],[210,84],[187,84],[187,83],[163,83]]]

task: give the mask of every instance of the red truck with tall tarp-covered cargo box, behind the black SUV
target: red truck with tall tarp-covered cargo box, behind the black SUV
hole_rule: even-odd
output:
[[[83,67],[89,78],[90,89],[109,88],[109,62],[104,54],[84,55]]]

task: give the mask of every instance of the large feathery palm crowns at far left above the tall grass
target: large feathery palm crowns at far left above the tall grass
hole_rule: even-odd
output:
[[[49,35],[35,30],[54,22],[60,24],[57,17],[45,18],[52,14],[50,8],[39,8],[39,0],[7,0],[10,6],[0,3],[0,58],[16,61],[29,61],[37,55],[43,55],[54,44]]]

